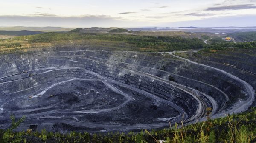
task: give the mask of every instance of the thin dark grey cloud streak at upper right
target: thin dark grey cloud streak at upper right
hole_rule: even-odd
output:
[[[206,11],[239,10],[239,9],[255,9],[255,8],[256,6],[253,4],[244,4],[244,5],[209,7],[206,9]]]

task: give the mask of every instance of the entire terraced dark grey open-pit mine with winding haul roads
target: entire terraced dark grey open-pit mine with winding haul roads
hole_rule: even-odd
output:
[[[97,49],[97,50],[95,50]],[[248,98],[238,81],[160,53],[102,51],[92,45],[1,55],[0,128],[108,132],[194,121]]]

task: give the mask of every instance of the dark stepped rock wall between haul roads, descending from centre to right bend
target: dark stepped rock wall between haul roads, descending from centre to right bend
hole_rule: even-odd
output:
[[[118,68],[113,70],[112,67],[111,71],[105,70],[108,67],[104,67],[104,65],[97,65],[96,67],[94,67],[94,65],[97,64],[92,64],[91,66],[85,65],[85,68],[101,75],[105,75],[105,77],[108,77],[109,79],[120,81],[122,83],[144,90],[148,93],[152,93],[153,95],[157,95],[158,97],[168,101],[172,101],[173,103],[182,107],[189,116],[195,114],[195,109],[197,109],[198,106],[197,101],[192,99],[191,95],[184,93],[183,91],[173,88],[172,86],[165,84],[162,81],[153,81],[153,79],[150,77],[138,75],[137,73],[133,73],[129,70],[124,71]],[[120,72],[122,72],[123,76],[118,76]]]

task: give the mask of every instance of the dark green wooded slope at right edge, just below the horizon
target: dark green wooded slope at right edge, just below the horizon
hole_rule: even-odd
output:
[[[256,41],[256,32],[239,32],[230,33],[228,36],[235,38],[238,41]]]

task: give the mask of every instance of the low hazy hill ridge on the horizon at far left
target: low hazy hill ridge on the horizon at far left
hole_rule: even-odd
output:
[[[70,31],[74,28],[63,28],[63,27],[23,27],[23,26],[15,26],[15,27],[0,27],[0,30],[5,31],[43,31],[43,32],[55,32],[55,31]]]

